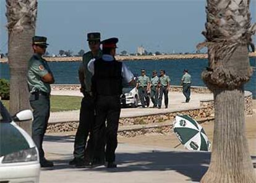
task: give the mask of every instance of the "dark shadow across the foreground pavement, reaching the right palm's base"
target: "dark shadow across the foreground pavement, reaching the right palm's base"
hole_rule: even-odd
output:
[[[70,160],[53,160],[54,170],[72,171],[133,172],[133,171],[176,171],[189,177],[187,181],[200,181],[208,169],[210,153],[190,153],[179,151],[152,151],[142,153],[117,153],[118,168],[77,169],[69,165]]]

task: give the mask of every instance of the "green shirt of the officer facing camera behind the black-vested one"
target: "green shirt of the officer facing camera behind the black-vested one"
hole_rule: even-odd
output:
[[[88,70],[88,63],[90,62],[90,60],[92,59],[98,59],[102,56],[102,51],[101,49],[98,51],[98,55],[96,57],[93,56],[92,51],[88,51],[87,53],[83,54],[83,61],[80,64],[80,69],[83,69],[83,74],[84,74],[84,80],[83,80],[83,84],[84,84],[84,88],[85,91],[90,92],[91,91],[91,87],[92,87],[92,73],[89,72]]]

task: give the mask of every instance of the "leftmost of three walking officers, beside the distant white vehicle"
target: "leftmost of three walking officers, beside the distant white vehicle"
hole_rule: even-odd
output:
[[[137,79],[136,88],[139,90],[139,98],[140,103],[142,103],[142,108],[145,108],[145,104],[149,106],[149,98],[148,98],[148,91],[150,88],[150,79],[146,75],[145,69],[140,70],[141,75]]]

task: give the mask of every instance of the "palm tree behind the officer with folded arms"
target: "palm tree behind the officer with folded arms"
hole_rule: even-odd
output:
[[[36,0],[6,0],[8,28],[8,60],[10,66],[10,112],[28,109],[27,62],[32,56],[35,35]],[[31,132],[30,122],[22,123]]]

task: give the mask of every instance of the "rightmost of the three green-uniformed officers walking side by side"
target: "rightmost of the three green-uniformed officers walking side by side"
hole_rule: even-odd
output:
[[[160,87],[160,93],[158,98],[158,109],[161,108],[163,95],[164,95],[164,105],[165,108],[168,108],[168,91],[170,86],[169,76],[165,74],[165,70],[160,70],[160,78],[158,81],[158,85]]]

